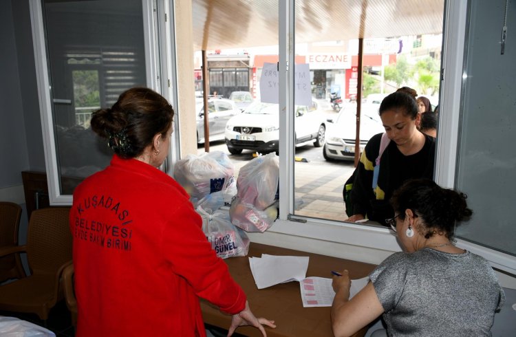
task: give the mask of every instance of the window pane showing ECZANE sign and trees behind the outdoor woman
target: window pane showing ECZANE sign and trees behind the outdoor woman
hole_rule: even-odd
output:
[[[296,65],[309,65],[311,96],[316,102],[316,109],[305,115],[298,113],[294,120],[295,160],[306,159],[294,164],[295,215],[336,221],[349,217],[343,202],[344,184],[354,172],[355,152],[363,151],[373,135],[385,131],[378,107],[387,94],[407,86],[437,104],[441,28],[436,29],[436,25],[427,30],[421,23],[440,17],[442,27],[439,8],[444,10],[444,2],[433,3],[435,7],[416,21],[412,20],[413,12],[400,11],[394,2],[385,3],[382,10],[375,4],[378,1],[370,1],[362,8],[366,19],[361,23],[359,14],[343,21],[325,17],[327,12],[318,1],[295,2]],[[349,10],[346,1],[332,3],[332,12]],[[396,15],[396,23],[387,19],[387,12]],[[313,25],[315,18],[324,24]],[[402,22],[404,27],[398,24]],[[363,69],[358,68],[360,27],[365,29]],[[356,149],[358,96],[361,119]]]

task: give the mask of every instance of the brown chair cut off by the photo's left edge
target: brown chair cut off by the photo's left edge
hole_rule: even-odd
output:
[[[18,246],[21,206],[14,202],[0,202],[0,252]],[[0,283],[25,277],[20,254],[0,258]]]

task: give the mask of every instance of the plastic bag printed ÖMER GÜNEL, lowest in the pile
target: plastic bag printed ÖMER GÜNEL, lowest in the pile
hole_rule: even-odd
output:
[[[231,224],[227,211],[215,210],[213,214],[197,208],[202,217],[202,231],[217,253],[217,257],[245,257],[249,251],[246,233]]]

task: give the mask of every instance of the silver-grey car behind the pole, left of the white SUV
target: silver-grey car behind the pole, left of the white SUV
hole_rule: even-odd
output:
[[[195,105],[197,120],[197,143],[204,143],[204,104],[197,102]],[[239,115],[241,110],[235,105],[233,100],[225,98],[210,98],[208,100],[208,127],[210,131],[210,141],[223,140],[224,129],[230,118]]]

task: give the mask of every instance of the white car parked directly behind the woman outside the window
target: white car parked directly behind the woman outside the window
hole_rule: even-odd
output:
[[[376,133],[385,132],[378,115],[379,104],[363,103],[361,106],[360,151]],[[354,160],[356,138],[356,105],[347,105],[334,120],[328,120],[325,160]]]

